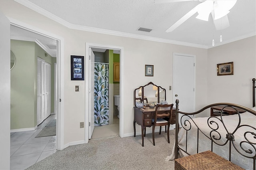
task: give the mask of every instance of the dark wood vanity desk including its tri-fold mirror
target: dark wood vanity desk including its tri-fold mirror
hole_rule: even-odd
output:
[[[143,99],[143,100],[142,100]],[[136,102],[144,102],[144,104],[149,105],[154,103],[160,103],[161,101],[166,101],[166,89],[155,85],[150,82],[147,85],[140,86],[134,90],[134,105]],[[144,108],[134,107],[134,137],[136,136],[136,123],[141,126],[141,137],[142,146],[144,146],[144,136],[146,133],[146,127],[152,126],[152,119],[154,118],[155,107],[146,106]],[[170,110],[170,108],[160,108],[159,111]],[[175,108],[172,109],[172,121],[171,124],[176,122]]]

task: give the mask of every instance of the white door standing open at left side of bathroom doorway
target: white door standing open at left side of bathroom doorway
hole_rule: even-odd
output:
[[[92,132],[94,130],[94,53],[89,48],[89,139],[92,138]]]

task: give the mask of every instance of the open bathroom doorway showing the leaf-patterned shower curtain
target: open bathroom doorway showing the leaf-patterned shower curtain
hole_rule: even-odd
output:
[[[94,77],[94,130],[91,139],[119,136],[120,50],[92,48],[92,52],[94,53],[94,73],[91,73]]]

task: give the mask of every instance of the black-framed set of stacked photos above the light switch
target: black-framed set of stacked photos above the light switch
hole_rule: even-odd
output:
[[[71,80],[84,80],[84,56],[71,55]]]

